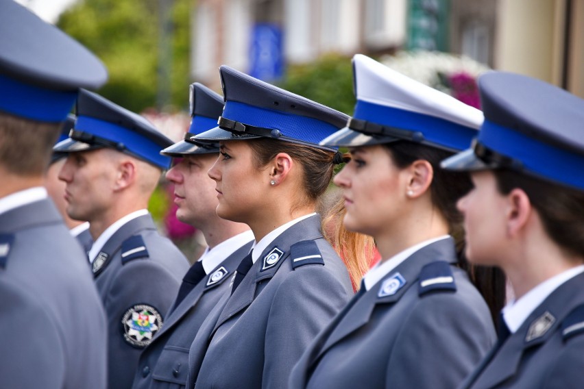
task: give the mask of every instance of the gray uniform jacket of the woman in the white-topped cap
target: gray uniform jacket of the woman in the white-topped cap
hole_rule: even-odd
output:
[[[496,339],[454,242],[416,251],[360,292],[302,355],[290,388],[456,388]]]

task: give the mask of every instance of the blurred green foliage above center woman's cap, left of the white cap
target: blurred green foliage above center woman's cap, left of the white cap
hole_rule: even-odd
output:
[[[329,54],[311,64],[291,65],[279,86],[345,114],[353,114],[355,97],[350,58]]]

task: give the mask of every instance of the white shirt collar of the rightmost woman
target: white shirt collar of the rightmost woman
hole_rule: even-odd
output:
[[[561,284],[565,283],[565,281],[568,281],[568,279],[576,277],[576,275],[583,272],[584,265],[570,268],[550,279],[546,279],[546,281],[524,294],[519,300],[511,301],[509,304],[505,305],[505,308],[503,308],[502,311],[503,318],[505,324],[509,327],[511,334],[515,334],[531,312],[539,307],[539,305],[541,305],[554,290],[556,290]]]

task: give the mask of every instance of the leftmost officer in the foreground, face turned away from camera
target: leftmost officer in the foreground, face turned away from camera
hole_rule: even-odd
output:
[[[106,68],[13,1],[0,36],[0,387],[105,388],[104,310],[42,184],[78,89]]]

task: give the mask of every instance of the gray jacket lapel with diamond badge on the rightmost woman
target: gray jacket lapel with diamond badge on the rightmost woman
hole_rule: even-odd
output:
[[[550,296],[537,307],[526,321],[502,344],[502,347],[491,356],[490,361],[485,357],[477,371],[473,373],[476,384],[471,380],[466,387],[475,389],[493,388],[513,377],[524,353],[544,344],[558,331],[561,322],[576,306],[584,303],[584,294],[575,294],[584,283],[584,273],[570,279],[559,286]],[[575,289],[574,289],[575,288]]]

